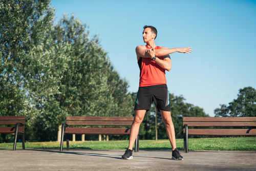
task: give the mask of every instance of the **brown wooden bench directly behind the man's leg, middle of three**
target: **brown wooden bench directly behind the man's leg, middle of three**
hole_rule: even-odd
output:
[[[61,126],[60,151],[63,149],[63,136],[67,135],[69,151],[69,134],[86,135],[130,135],[134,117],[68,116]],[[64,127],[66,125],[66,131]],[[70,127],[70,126],[115,126],[115,127]],[[117,127],[119,126],[119,127]],[[129,127],[120,127],[129,126]],[[139,135],[135,141],[135,152],[139,151]]]

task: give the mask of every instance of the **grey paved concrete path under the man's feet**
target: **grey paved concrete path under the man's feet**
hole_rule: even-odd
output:
[[[0,149],[0,170],[256,170],[256,152],[189,151],[183,161],[171,151]]]

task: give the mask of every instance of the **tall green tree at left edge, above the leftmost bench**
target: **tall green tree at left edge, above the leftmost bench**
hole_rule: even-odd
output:
[[[28,107],[20,60],[31,37],[40,37],[52,17],[50,1],[0,2],[0,114],[22,115]]]

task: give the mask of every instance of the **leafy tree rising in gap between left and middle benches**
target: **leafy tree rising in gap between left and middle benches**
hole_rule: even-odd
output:
[[[59,93],[62,73],[68,68],[65,52],[70,48],[69,45],[58,45],[56,48],[51,36],[53,31],[52,20],[40,44],[29,51],[22,60],[27,71],[24,74],[24,82],[31,109],[26,113],[30,141],[55,140],[59,116],[62,114],[54,95]],[[33,40],[30,41],[30,47],[33,47]]]

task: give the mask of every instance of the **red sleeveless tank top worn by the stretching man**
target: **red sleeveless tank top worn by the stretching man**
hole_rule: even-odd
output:
[[[147,49],[151,49],[146,47]],[[159,46],[155,49],[160,49]],[[158,56],[159,59],[163,59],[162,56]],[[166,84],[165,70],[162,69],[151,58],[140,57],[138,60],[140,68],[140,84],[139,87],[155,86],[159,84]]]

